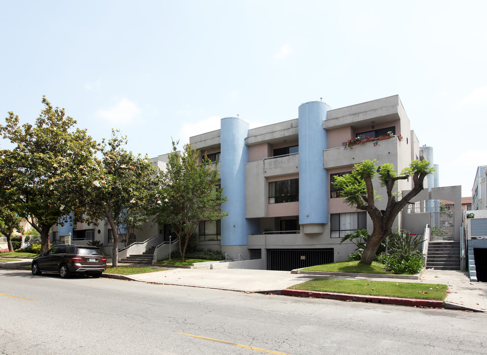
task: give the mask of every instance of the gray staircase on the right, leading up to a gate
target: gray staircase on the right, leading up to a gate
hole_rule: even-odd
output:
[[[426,269],[460,270],[460,242],[430,241]]]

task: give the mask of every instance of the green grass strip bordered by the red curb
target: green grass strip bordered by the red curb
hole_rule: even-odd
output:
[[[447,296],[445,284],[422,284],[390,281],[313,279],[295,284],[290,289],[385,296],[399,298],[431,299],[443,301]]]

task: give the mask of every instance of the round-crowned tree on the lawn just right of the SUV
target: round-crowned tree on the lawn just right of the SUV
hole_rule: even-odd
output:
[[[125,136],[112,131],[108,143],[100,145],[101,158],[95,158],[78,175],[78,210],[83,210],[82,219],[95,224],[106,219],[113,237],[112,263],[118,266],[118,230],[121,215],[127,208],[136,208],[150,200],[153,192],[155,168],[147,157],[134,155],[122,146]],[[81,217],[80,217],[81,218]]]

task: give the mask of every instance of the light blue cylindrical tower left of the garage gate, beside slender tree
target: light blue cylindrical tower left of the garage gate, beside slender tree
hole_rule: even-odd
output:
[[[245,218],[245,163],[249,161],[245,138],[248,133],[247,122],[235,117],[222,118],[220,177],[227,199],[222,204],[222,212],[228,213],[222,219],[222,246],[247,245],[247,236],[258,233],[255,223]]]

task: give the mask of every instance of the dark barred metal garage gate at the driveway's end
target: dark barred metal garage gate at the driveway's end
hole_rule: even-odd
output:
[[[267,270],[291,271],[333,262],[331,249],[267,249]]]

